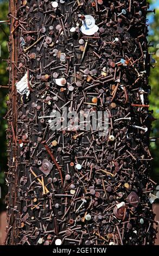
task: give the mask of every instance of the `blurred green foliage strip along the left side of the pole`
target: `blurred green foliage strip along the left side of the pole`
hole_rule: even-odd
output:
[[[8,20],[8,2],[0,1],[0,21]],[[8,63],[2,59],[8,59],[8,35],[9,27],[7,23],[0,23],[0,46],[1,46],[1,57],[0,57],[0,85],[5,86],[8,84]],[[6,100],[7,100],[8,90],[5,88],[0,88],[0,186],[2,191],[2,199],[0,199],[0,211],[4,209],[5,204],[5,193],[7,192],[7,187],[5,186],[5,174],[7,171],[7,139],[5,138],[5,130],[7,129],[6,121],[3,119],[5,113],[7,112]]]

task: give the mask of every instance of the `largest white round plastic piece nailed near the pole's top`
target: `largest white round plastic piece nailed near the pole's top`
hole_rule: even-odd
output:
[[[81,32],[85,35],[93,35],[98,31],[99,27],[95,24],[95,20],[91,15],[85,15],[85,20],[82,20]]]

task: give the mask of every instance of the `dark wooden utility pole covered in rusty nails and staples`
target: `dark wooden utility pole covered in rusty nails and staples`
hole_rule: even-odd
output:
[[[5,243],[152,245],[147,1],[9,2]]]

